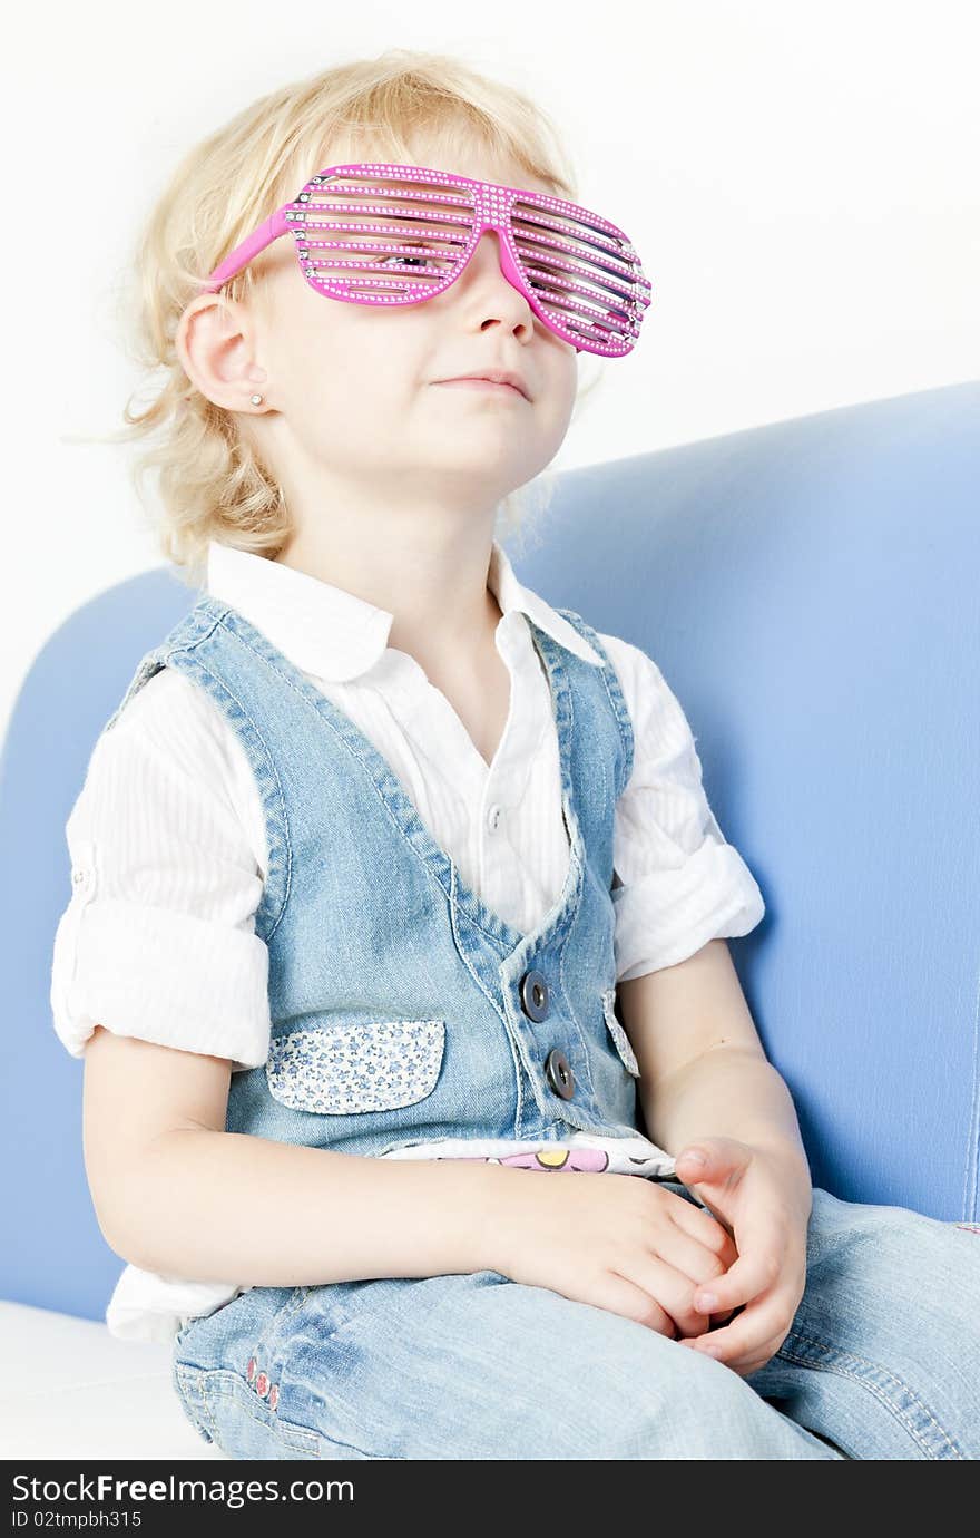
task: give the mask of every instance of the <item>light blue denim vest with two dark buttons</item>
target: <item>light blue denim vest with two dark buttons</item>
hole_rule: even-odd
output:
[[[204,594],[146,652],[106,731],[161,667],[237,734],[266,820],[255,932],[270,1049],[230,1077],[229,1132],[382,1155],[436,1138],[636,1137],[636,1058],[613,1012],[613,814],[633,727],[598,667],[527,618],[547,671],[570,838],[531,934],[492,912],[370,740],[237,609]]]

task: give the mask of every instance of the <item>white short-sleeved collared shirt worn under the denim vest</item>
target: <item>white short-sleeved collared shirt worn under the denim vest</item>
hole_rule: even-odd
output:
[[[487,584],[501,608],[496,646],[510,672],[504,735],[487,764],[447,697],[387,644],[393,615],[343,588],[212,541],[207,591],[232,604],[344,711],[402,781],[462,880],[522,934],[538,927],[568,872],[558,732],[527,618],[576,655],[593,647],[524,588],[502,546]],[[688,721],[657,664],[599,632],[634,732],[634,763],[614,812],[616,978],[687,960],[762,920],[759,886],[707,801]],[[184,1052],[226,1057],[232,1072],[269,1055],[269,952],[255,934],[267,869],[255,777],[220,707],[177,669],[155,674],[92,749],[66,823],[72,897],[51,977],[55,1030],[83,1057],[95,1024]],[[622,1050],[630,1052],[622,1034]],[[512,1140],[438,1144],[502,1157]],[[673,1160],[636,1140],[571,1132],[559,1147],[601,1147],[610,1169],[670,1175]],[[436,1144],[399,1150],[433,1157]],[[392,1155],[389,1155],[392,1157]],[[171,1340],[237,1283],[195,1283],[127,1266],[106,1323],[120,1338]]]

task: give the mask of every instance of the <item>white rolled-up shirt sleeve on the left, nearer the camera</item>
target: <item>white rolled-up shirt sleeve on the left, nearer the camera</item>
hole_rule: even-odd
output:
[[[72,1057],[100,1024],[257,1067],[270,1034],[263,877],[195,686],[161,678],[98,738],[65,829],[72,886],[54,938],[54,1027]]]

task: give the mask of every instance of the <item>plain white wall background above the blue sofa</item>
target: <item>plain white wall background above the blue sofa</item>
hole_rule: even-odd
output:
[[[138,378],[115,291],[141,217],[195,140],[333,63],[432,48],[512,82],[633,237],[641,346],[582,357],[602,383],[556,471],[980,375],[974,0],[89,0],[20,8],[18,40],[0,734],[61,620],[161,563],[131,451],[68,441],[118,428]]]

